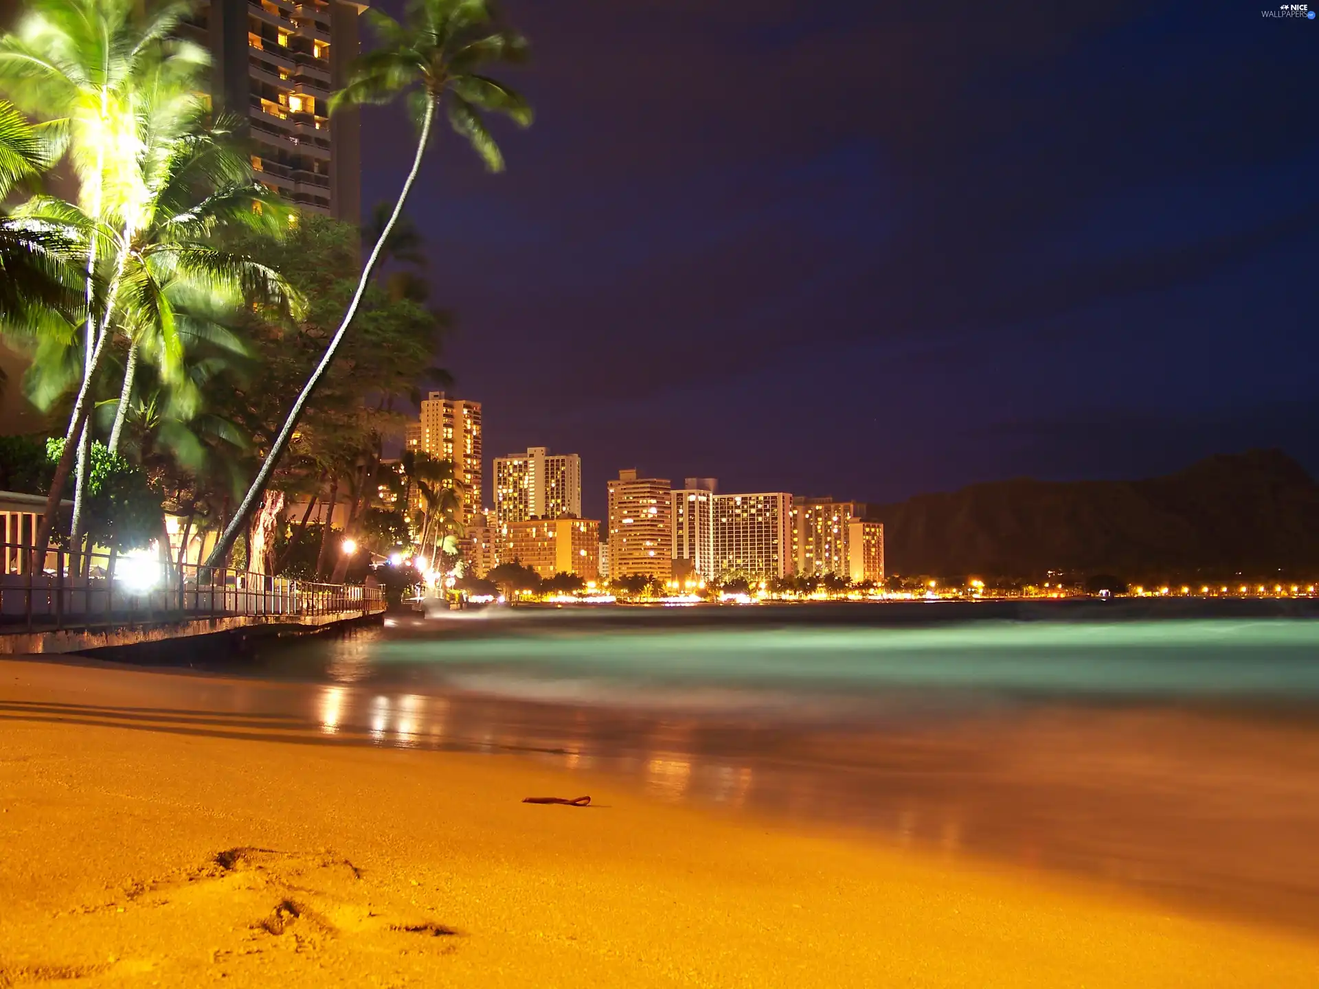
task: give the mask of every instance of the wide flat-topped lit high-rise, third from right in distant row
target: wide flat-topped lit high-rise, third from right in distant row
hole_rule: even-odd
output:
[[[793,572],[793,496],[716,494],[714,559],[719,578],[770,580]]]

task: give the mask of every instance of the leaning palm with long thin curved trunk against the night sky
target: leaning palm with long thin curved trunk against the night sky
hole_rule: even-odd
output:
[[[367,11],[379,49],[367,53],[350,70],[348,84],[330,100],[331,111],[348,104],[388,103],[408,94],[409,105],[418,120],[417,153],[398,194],[398,202],[380,232],[357,281],[357,290],[339,323],[339,328],[315,371],[307,378],[284,421],[284,427],[270,446],[261,468],[252,480],[241,505],[211,553],[210,563],[219,566],[243,531],[248,517],[261,500],[274,467],[284,455],[297,429],[298,419],[321,378],[334,361],[344,334],[352,326],[361,298],[371,282],[380,255],[404,211],[408,194],[421,171],[422,157],[430,142],[435,109],[443,104],[448,123],[476,150],[491,171],[504,169],[504,157],[483,119],[483,111],[504,113],[521,127],[532,123],[532,108],[522,96],[484,74],[487,66],[520,62],[526,54],[526,41],[495,17],[491,0],[410,0],[406,25],[379,11]]]

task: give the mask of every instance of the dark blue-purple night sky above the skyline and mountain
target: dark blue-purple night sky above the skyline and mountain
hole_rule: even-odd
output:
[[[506,11],[537,123],[495,177],[446,131],[409,211],[487,455],[582,454],[587,514],[633,465],[867,501],[1252,446],[1319,472],[1319,20]],[[392,198],[401,111],[363,142]]]

